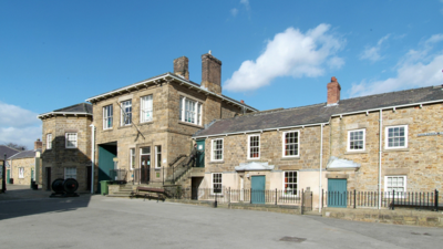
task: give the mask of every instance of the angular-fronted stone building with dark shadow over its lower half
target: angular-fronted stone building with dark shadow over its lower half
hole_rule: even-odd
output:
[[[79,191],[91,189],[92,105],[80,103],[38,116],[42,131],[42,188],[56,178],[75,178]]]

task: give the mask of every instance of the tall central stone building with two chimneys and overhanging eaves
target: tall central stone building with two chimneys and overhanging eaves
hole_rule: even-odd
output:
[[[189,155],[193,134],[214,120],[257,111],[222,94],[222,62],[210,52],[202,55],[202,84],[189,81],[188,59],[182,56],[174,60],[174,73],[86,101],[94,115],[95,184],[164,184],[175,163]]]

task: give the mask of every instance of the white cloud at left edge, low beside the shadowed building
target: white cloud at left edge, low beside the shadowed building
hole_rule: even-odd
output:
[[[37,113],[0,102],[0,144],[16,143],[33,148],[42,136],[41,121]]]

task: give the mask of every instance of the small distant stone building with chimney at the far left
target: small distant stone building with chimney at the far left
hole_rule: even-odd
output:
[[[37,139],[34,149],[21,151],[8,157],[10,170],[8,170],[7,183],[30,186],[31,180],[34,180],[38,185],[41,185],[41,152],[42,142]]]

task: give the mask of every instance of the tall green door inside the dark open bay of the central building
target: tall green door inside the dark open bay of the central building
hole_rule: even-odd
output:
[[[114,157],[117,156],[117,146],[99,145],[99,186],[101,193],[101,180],[111,180],[110,170],[114,168]]]

